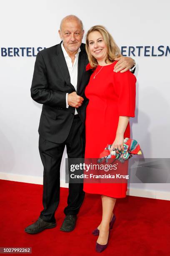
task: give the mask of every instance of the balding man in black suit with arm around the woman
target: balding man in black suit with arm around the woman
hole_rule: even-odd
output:
[[[43,173],[43,207],[38,220],[25,228],[27,233],[38,233],[56,226],[55,211],[60,200],[60,164],[67,147],[68,158],[84,158],[85,109],[88,100],[85,87],[91,70],[85,71],[88,58],[82,21],[74,15],[62,19],[60,44],[37,54],[31,86],[31,97],[43,104],[39,125],[39,151]],[[117,70],[130,69],[133,59],[121,57]],[[85,192],[83,184],[69,184],[66,215],[60,230],[75,228],[77,213]]]

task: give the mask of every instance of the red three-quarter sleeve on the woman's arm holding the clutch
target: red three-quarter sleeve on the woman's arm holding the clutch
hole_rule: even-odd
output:
[[[114,72],[115,93],[119,116],[135,117],[136,77],[129,70]]]

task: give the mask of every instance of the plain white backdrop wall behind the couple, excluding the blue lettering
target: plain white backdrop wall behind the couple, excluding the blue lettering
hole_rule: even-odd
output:
[[[74,14],[82,20],[85,32],[100,24],[119,46],[154,46],[158,53],[158,46],[169,44],[169,10],[168,0],[6,0],[1,3],[0,47],[37,49],[58,44],[60,20]],[[133,138],[145,157],[169,158],[170,54],[144,56],[141,51],[134,58],[138,82],[136,117],[131,120]],[[43,167],[37,130],[42,105],[30,97],[34,63],[34,56],[0,56],[0,177],[22,180],[20,175],[24,175],[24,181],[39,183]],[[65,157],[66,153],[62,180]],[[170,192],[169,184],[130,184],[130,189],[135,187]]]

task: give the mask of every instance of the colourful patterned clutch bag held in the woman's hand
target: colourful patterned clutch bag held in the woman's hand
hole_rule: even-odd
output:
[[[124,150],[120,151],[117,149],[119,153],[116,153],[115,150],[112,150],[110,153],[110,148],[112,145],[107,145],[107,147],[100,154],[100,158],[97,159],[98,163],[108,162],[108,159],[118,160],[124,163],[125,160],[130,159],[133,154],[141,155],[142,152],[140,150],[139,143],[133,139],[125,138],[124,139]]]

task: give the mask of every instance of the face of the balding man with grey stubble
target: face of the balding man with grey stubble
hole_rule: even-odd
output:
[[[61,30],[58,31],[66,51],[75,52],[82,43],[84,30],[77,20],[63,21]]]

